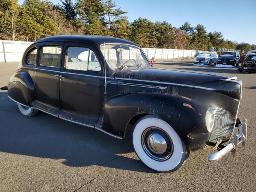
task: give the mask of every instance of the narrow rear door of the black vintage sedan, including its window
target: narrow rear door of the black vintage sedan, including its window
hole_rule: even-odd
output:
[[[36,107],[54,116],[60,112],[59,74],[63,45],[63,42],[40,43],[35,73]]]

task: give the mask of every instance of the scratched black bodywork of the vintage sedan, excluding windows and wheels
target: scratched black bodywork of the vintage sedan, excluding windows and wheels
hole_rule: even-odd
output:
[[[100,45],[121,43],[138,45],[117,38],[99,36],[56,36],[44,38],[25,51],[22,65],[8,84],[10,98],[39,108],[60,118],[95,127],[124,138],[129,122],[152,114],[170,124],[190,150],[206,146],[210,133],[205,115],[209,106],[228,110],[236,117],[242,90],[241,82],[226,77],[144,66],[112,70],[106,65],[104,94],[104,57]],[[60,45],[60,68],[54,70],[26,63],[31,48]],[[96,54],[101,71],[64,69],[66,48],[85,46]],[[66,72],[66,73],[65,73]],[[66,79],[54,75],[63,75]],[[87,75],[87,76],[86,76]]]

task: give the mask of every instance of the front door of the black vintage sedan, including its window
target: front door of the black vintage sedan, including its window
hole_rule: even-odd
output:
[[[103,68],[90,44],[65,42],[60,71],[60,116],[94,127],[100,116]]]

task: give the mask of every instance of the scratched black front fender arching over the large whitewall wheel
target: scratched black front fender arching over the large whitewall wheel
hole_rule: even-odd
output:
[[[128,123],[142,114],[166,121],[190,150],[206,145],[209,132],[205,115],[208,108],[182,96],[162,93],[133,93],[106,100],[99,128],[124,137]]]

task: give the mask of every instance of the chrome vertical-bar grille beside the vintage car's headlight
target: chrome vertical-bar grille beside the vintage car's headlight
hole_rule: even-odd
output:
[[[235,118],[222,108],[209,107],[209,110],[214,113],[215,121],[208,141],[216,143],[218,137],[223,142],[228,141],[234,131]]]

